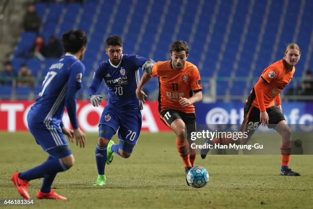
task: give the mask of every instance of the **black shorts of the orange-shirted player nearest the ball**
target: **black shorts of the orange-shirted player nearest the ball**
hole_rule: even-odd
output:
[[[190,133],[196,131],[196,115],[195,113],[184,113],[182,111],[166,109],[160,113],[161,120],[166,126],[171,127],[171,124],[176,119],[182,119],[186,126],[187,138],[190,138]]]

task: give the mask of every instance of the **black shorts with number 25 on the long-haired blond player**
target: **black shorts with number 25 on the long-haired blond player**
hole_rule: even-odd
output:
[[[277,107],[267,108],[267,114],[269,115],[269,129],[275,129],[276,125],[285,120],[284,114],[280,112]],[[260,126],[260,109],[249,105],[248,103],[244,107],[243,121],[241,125],[241,131],[248,131],[248,135],[251,136],[255,130]]]

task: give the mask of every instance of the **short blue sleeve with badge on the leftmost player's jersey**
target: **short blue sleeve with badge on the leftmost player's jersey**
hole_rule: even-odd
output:
[[[81,80],[82,76],[85,72],[85,67],[81,63],[81,61],[76,61],[72,66],[69,68],[70,76],[68,81],[68,87],[75,87],[76,90],[81,88]]]

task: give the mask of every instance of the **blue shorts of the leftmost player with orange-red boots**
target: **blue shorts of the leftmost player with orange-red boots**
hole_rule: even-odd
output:
[[[62,133],[61,127],[53,122],[33,122],[35,115],[29,112],[27,116],[28,128],[35,137],[37,144],[55,158],[62,158],[72,154],[69,143]]]

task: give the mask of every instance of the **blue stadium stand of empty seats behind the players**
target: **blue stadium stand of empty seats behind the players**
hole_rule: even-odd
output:
[[[124,53],[155,61],[169,59],[172,41],[186,40],[189,61],[198,66],[203,78],[216,80],[220,98],[245,99],[263,69],[281,58],[285,46],[293,41],[302,49],[295,77],[302,77],[313,66],[313,1],[131,0],[125,4],[121,0],[87,0],[84,4],[37,3],[36,11],[42,18],[40,34],[46,41],[53,34],[60,38],[72,28],[86,31],[86,77],[80,98],[86,97],[91,72],[107,59],[104,43],[111,34],[123,37]],[[18,69],[26,62],[40,86],[55,59],[23,58],[35,36],[32,32],[21,34],[12,64]],[[148,83],[147,91],[155,93],[157,85],[157,81]]]

